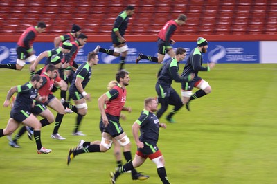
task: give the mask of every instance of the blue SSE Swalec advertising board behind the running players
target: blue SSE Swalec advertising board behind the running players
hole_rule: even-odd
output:
[[[127,42],[129,50],[126,57],[127,63],[135,63],[136,57],[139,53],[144,55],[157,56],[157,42]],[[87,60],[87,54],[93,50],[97,45],[102,48],[113,48],[109,42],[100,43],[87,43],[84,48],[80,49],[75,62],[82,63]],[[196,42],[177,42],[174,48],[183,47],[187,50],[187,56],[190,51],[195,48]],[[16,42],[0,42],[0,63],[15,63],[17,60],[16,55]],[[53,43],[51,42],[35,42],[34,49],[36,55],[44,52],[45,50],[53,49]],[[204,62],[216,62],[216,63],[259,63],[259,42],[208,42],[208,53],[203,54]],[[100,64],[118,63],[119,57],[107,55],[105,53],[99,53]],[[166,55],[164,61],[170,59]],[[44,63],[43,61],[41,63]],[[142,59],[140,63],[154,64],[148,60]]]

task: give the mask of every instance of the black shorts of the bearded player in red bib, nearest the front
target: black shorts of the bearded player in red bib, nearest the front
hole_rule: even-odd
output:
[[[109,125],[107,127],[104,127],[103,122],[102,122],[102,117],[100,119],[100,126],[102,125],[102,127],[100,128],[100,130],[102,132],[106,132],[109,135],[111,135],[113,138],[116,136],[119,136],[120,134],[122,134],[124,132],[123,128],[121,127],[120,123],[119,123],[119,116],[112,116],[109,115],[108,113],[106,113],[107,118],[109,120]]]

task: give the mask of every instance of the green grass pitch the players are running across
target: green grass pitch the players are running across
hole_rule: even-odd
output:
[[[131,77],[126,106],[132,107],[132,113],[125,112],[127,120],[121,124],[132,142],[133,156],[136,145],[131,127],[143,109],[143,100],[156,96],[154,85],[160,66],[125,66]],[[183,67],[181,63],[179,73]],[[114,80],[117,68],[118,64],[93,66],[86,88],[92,101],[88,102],[88,113],[80,129],[87,136],[71,136],[76,115],[67,114],[60,127],[60,134],[66,140],[50,138],[53,125],[42,129],[42,144],[53,149],[51,154],[38,155],[35,142],[28,140],[26,135],[19,140],[19,149],[10,147],[6,137],[0,138],[1,183],[109,183],[109,171],[116,167],[113,148],[105,154],[76,156],[69,166],[66,156],[69,148],[75,147],[80,139],[100,140],[97,100],[107,91],[107,83]],[[23,71],[1,69],[0,76],[0,102],[3,104],[11,86],[29,80],[28,65]],[[277,183],[277,65],[217,64],[211,72],[200,72],[199,76],[211,85],[212,93],[191,102],[190,112],[183,107],[175,116],[177,123],[167,123],[168,128],[160,131],[158,146],[166,159],[170,183]],[[173,82],[172,86],[180,92],[180,84]],[[55,95],[60,98],[60,92]],[[169,107],[168,111],[171,109]],[[1,128],[6,127],[9,115],[10,107],[2,106]],[[164,116],[160,122],[165,122]],[[138,171],[149,174],[150,178],[132,181],[127,173],[120,176],[117,183],[161,183],[151,160]]]

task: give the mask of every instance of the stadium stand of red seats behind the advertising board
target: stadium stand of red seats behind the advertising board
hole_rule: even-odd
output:
[[[127,34],[156,35],[169,19],[188,17],[176,34],[277,34],[276,0],[82,0],[0,1],[0,31],[17,35],[27,26],[45,21],[43,35],[68,33],[78,24],[88,35],[109,35],[118,13],[136,6]],[[87,31],[91,32],[87,33]]]

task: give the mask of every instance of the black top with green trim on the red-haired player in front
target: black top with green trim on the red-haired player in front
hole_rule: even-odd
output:
[[[136,120],[136,123],[141,126],[139,140],[141,142],[157,144],[159,139],[159,119],[157,116],[144,109],[139,119]]]

